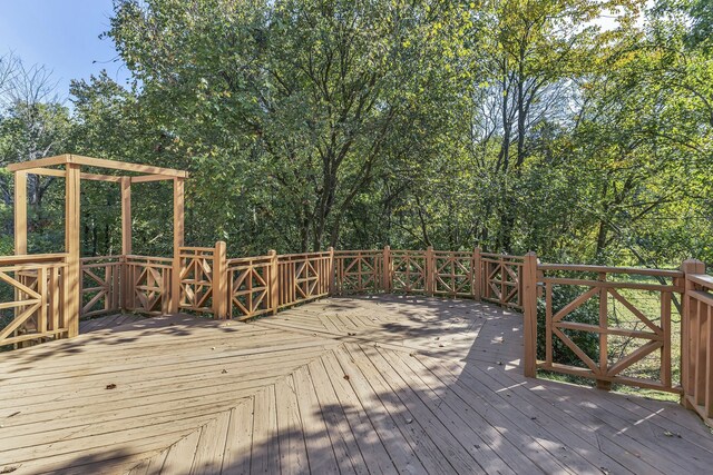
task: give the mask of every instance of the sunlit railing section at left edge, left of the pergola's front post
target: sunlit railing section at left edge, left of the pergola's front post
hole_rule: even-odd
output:
[[[0,347],[69,335],[66,268],[64,254],[0,257]]]

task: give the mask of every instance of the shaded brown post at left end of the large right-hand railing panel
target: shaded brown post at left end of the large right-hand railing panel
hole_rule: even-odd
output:
[[[522,266],[522,314],[525,376],[537,377],[537,255],[527,253]]]

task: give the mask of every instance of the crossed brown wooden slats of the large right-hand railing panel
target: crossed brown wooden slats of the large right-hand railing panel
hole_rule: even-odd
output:
[[[680,392],[681,388],[672,383],[672,360],[671,360],[671,313],[672,298],[674,294],[683,291],[681,287],[681,273],[665,270],[642,271],[644,276],[653,276],[660,279],[673,279],[673,284],[654,284],[632,281],[635,271],[624,271],[627,280],[612,280],[612,275],[623,274],[612,271],[612,268],[599,266],[539,266],[544,273],[539,281],[545,287],[545,362],[540,367],[559,373],[573,374],[595,378],[600,385],[612,383],[623,383],[639,387],[655,388],[660,390]],[[586,271],[596,275],[596,279],[587,277],[561,277],[545,276],[553,271],[569,271],[577,274]],[[639,279],[641,276],[637,276]],[[574,286],[584,289],[570,301],[561,305],[558,310],[554,309],[554,293],[557,288]],[[656,315],[646,315],[641,306],[639,299],[634,299],[633,295],[644,294],[639,297],[644,301],[655,296]],[[590,307],[597,308],[598,323],[586,323],[582,317],[574,317],[575,311],[587,303],[594,301]],[[621,307],[619,313],[625,311],[633,321],[624,321],[613,316],[613,309]],[[598,355],[587,353],[574,340],[573,335],[594,334],[598,347]],[[613,339],[625,339],[626,350],[623,354],[611,352]],[[561,342],[576,355],[580,365],[563,364],[556,362],[554,357],[555,340]],[[660,368],[657,377],[642,378],[631,377],[623,374],[627,368],[648,357],[656,355]]]

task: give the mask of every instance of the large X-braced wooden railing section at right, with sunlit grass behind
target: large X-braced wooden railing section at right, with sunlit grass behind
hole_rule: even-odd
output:
[[[537,271],[545,331],[539,368],[594,378],[600,388],[618,383],[682,392],[672,380],[672,300],[683,293],[683,273],[574,265]],[[557,353],[570,363],[559,363]],[[655,359],[647,367],[656,374],[633,370],[645,358]]]

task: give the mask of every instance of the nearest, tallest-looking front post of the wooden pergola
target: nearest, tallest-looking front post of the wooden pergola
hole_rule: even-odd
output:
[[[79,205],[81,201],[80,182],[81,166],[67,164],[65,181],[65,251],[67,253],[67,270],[65,277],[65,324],[69,338],[79,335],[79,310],[81,293]]]

